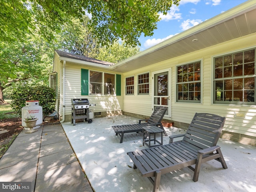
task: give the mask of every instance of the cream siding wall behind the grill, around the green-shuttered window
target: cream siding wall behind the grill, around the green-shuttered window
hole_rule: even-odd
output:
[[[101,94],[81,95],[81,69],[116,74],[113,71],[84,67],[66,62],[64,93],[65,121],[71,121],[71,99],[73,98],[87,98],[90,104],[96,104],[96,106],[90,107],[96,116],[112,116],[122,114],[123,96]],[[121,81],[121,84],[123,84],[123,81]],[[123,86],[121,86],[121,92],[123,92]]]

